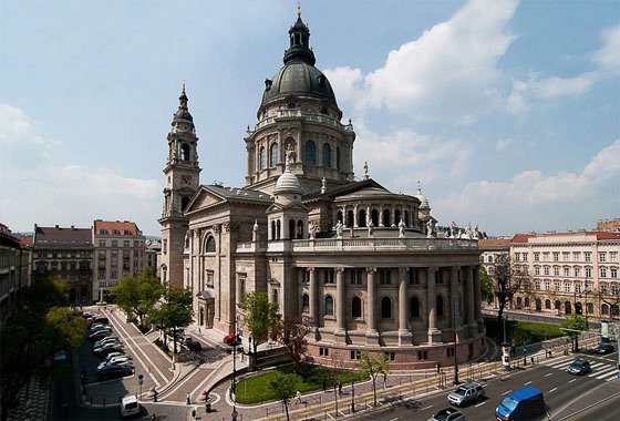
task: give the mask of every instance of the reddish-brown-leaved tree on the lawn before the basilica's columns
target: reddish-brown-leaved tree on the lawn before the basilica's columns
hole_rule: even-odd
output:
[[[309,317],[280,320],[273,328],[276,340],[281,343],[293,362],[296,373],[304,377],[301,362],[308,351],[307,335],[314,328],[314,321]]]

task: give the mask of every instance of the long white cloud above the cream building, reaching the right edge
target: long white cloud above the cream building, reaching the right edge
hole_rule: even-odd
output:
[[[461,214],[484,220],[480,225],[490,230],[506,226],[516,232],[564,229],[567,224],[583,220],[591,225],[606,213],[617,213],[618,179],[620,138],[596,154],[581,172],[545,175],[533,170],[507,182],[468,183],[463,191],[437,201],[436,208],[448,217]]]

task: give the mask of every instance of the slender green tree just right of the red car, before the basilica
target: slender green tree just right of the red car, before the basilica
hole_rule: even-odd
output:
[[[252,338],[254,352],[250,356],[250,369],[256,363],[258,346],[269,339],[269,331],[280,321],[278,304],[269,302],[265,292],[251,292],[241,299],[242,325]]]

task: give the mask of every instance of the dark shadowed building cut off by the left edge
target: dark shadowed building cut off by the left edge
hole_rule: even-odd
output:
[[[0,224],[0,329],[20,302],[20,290],[30,285],[30,248]]]

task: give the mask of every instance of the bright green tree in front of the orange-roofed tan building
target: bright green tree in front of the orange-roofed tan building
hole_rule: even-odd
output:
[[[159,283],[151,267],[145,268],[137,276],[124,274],[118,286],[111,290],[118,307],[127,315],[136,316],[142,329],[144,329],[145,317],[153,311],[155,304],[164,292],[165,286]]]

